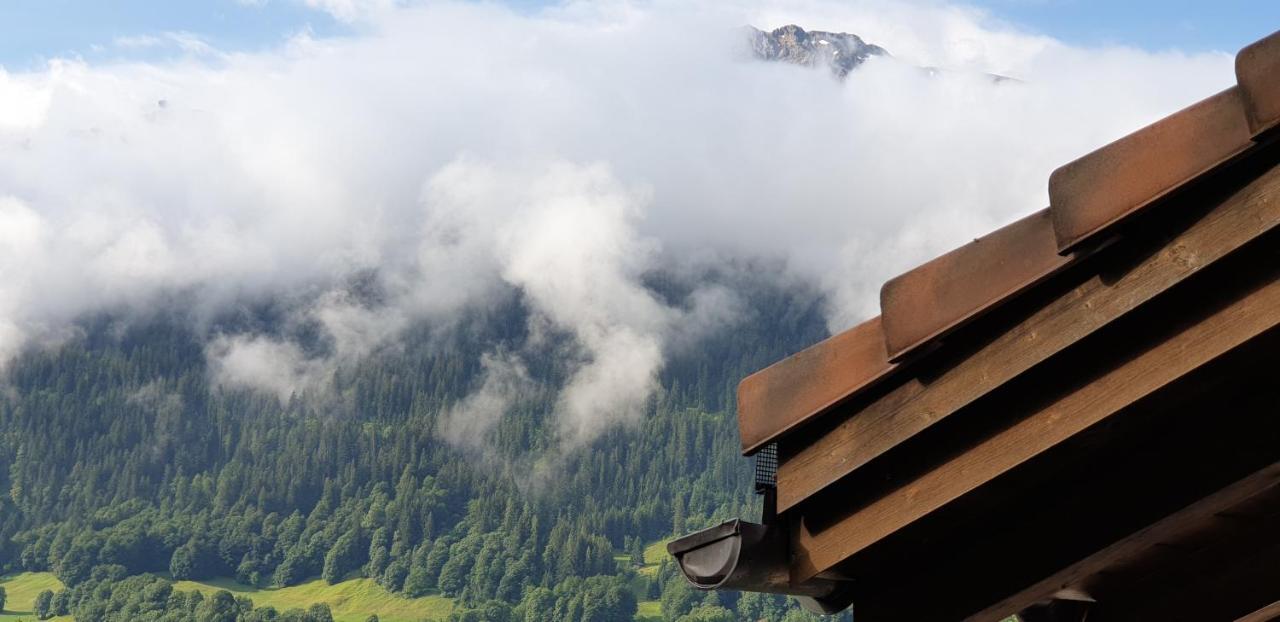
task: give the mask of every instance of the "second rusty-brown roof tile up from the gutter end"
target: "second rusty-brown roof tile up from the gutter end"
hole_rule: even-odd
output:
[[[1071,260],[1059,255],[1046,209],[891,279],[881,288],[890,360],[901,360]]]

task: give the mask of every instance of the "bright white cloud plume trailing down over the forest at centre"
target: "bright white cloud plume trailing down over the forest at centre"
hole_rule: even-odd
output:
[[[635,228],[645,197],[599,165],[553,166],[522,186],[530,196],[500,225],[495,251],[503,279],[586,351],[558,403],[561,435],[579,444],[602,424],[639,419],[677,314],[639,283],[657,251]]]

